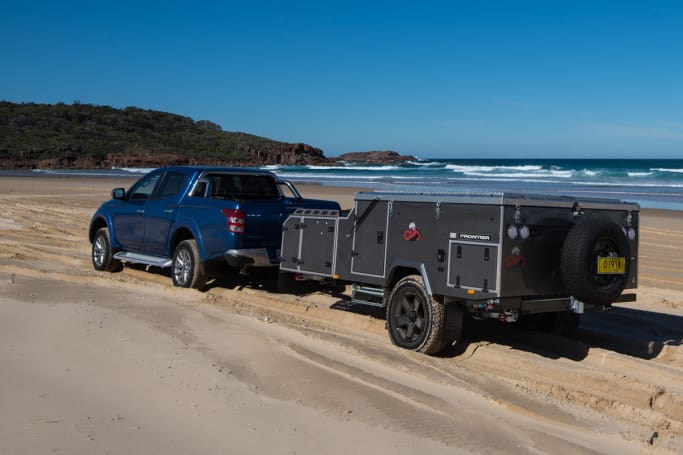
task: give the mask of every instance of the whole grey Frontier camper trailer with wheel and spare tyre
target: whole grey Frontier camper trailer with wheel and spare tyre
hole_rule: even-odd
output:
[[[352,286],[386,308],[392,342],[434,354],[463,319],[557,330],[588,308],[635,300],[639,206],[511,193],[359,192],[352,210],[299,209],[280,270]]]

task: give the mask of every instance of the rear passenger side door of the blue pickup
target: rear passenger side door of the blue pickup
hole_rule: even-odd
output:
[[[152,197],[145,203],[145,252],[166,256],[171,224],[178,203],[184,195],[187,176],[181,172],[167,172]]]

